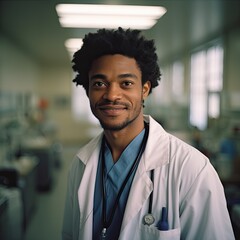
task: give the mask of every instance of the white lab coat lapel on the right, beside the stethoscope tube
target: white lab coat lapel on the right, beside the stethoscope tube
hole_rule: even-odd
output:
[[[169,139],[166,132],[151,117],[145,118],[145,121],[150,123],[149,137],[128,196],[121,231],[141,211],[153,191],[150,171],[169,162]]]

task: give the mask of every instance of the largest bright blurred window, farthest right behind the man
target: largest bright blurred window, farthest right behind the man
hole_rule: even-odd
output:
[[[203,130],[208,118],[220,115],[223,86],[223,48],[209,46],[191,56],[190,123]]]

